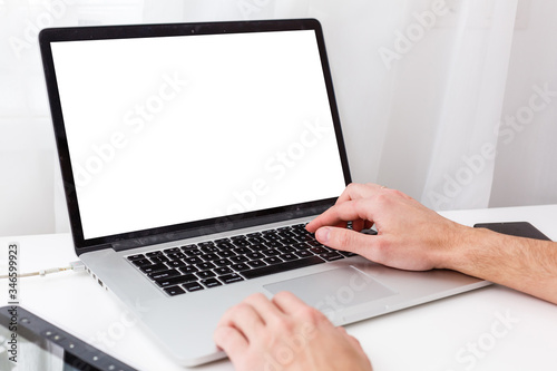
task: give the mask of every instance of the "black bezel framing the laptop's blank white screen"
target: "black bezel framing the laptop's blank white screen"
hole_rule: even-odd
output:
[[[203,22],[203,23],[166,23],[166,25],[133,25],[133,26],[99,26],[99,27],[69,27],[45,29],[39,35],[39,45],[42,57],[50,111],[58,147],[66,203],[69,213],[70,228],[76,253],[106,248],[134,248],[144,245],[176,241],[193,236],[233,231],[237,228],[286,221],[319,214],[334,204],[335,197],[294,204],[224,217],[215,217],[196,222],[182,223],[164,227],[134,231],[95,238],[85,238],[79,213],[76,183],[70,162],[68,140],[66,136],[60,95],[57,85],[51,43],[57,41],[129,39],[150,37],[172,37],[188,35],[217,35],[241,32],[264,32],[285,30],[313,30],[315,32],[323,77],[329,96],[331,117],[336,135],[336,143],[342,164],[344,182],[351,183],[346,150],[340,126],[340,117],[334,97],[330,66],[326,57],[325,43],[321,25],[315,19],[292,20],[262,20],[233,22]]]

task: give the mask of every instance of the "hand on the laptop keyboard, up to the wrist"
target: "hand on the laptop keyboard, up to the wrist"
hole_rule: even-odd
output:
[[[354,231],[373,224],[378,235]],[[451,269],[470,227],[453,223],[405,194],[375,184],[351,184],[336,204],[307,226],[322,244],[411,271]]]

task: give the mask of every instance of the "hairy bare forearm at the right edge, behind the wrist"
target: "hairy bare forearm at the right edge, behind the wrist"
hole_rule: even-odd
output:
[[[467,228],[446,267],[557,304],[557,243]]]

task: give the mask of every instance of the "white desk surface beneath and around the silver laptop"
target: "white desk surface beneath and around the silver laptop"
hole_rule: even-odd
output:
[[[462,224],[528,221],[557,241],[557,205],[442,213]],[[20,272],[76,260],[67,234],[0,238],[20,244]],[[0,304],[7,303],[7,281]],[[21,304],[140,370],[184,370],[166,359],[127,310],[89,275],[58,273],[20,281]],[[507,318],[507,319],[506,319]],[[492,285],[346,326],[381,370],[555,370],[557,306]],[[232,370],[228,361],[196,368]]]

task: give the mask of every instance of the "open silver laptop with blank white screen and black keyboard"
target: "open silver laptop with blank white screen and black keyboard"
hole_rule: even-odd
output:
[[[46,29],[76,253],[176,362],[255,292],[346,324],[488,284],[404,272],[304,226],[351,182],[319,21]]]

